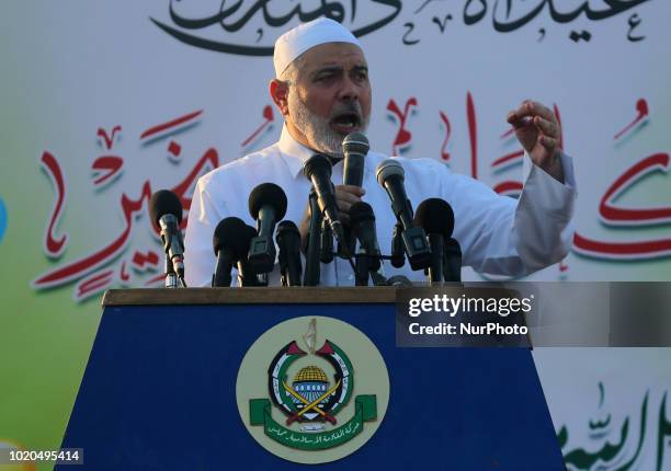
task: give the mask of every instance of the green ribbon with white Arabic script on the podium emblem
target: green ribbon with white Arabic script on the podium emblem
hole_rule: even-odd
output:
[[[332,430],[304,433],[286,428],[275,422],[271,415],[271,403],[268,399],[249,401],[250,425],[263,425],[263,432],[273,440],[299,450],[323,450],[342,445],[363,430],[364,422],[377,418],[377,399],[375,394],[361,394],[354,398],[354,416]]]

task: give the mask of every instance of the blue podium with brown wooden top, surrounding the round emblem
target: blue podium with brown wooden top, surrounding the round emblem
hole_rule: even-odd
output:
[[[239,367],[269,329],[343,321],[389,376],[372,438],[319,469],[564,470],[527,348],[399,348],[395,288],[110,290],[62,448],[91,470],[306,468],[266,451],[236,403]],[[66,469],[57,467],[57,469]]]

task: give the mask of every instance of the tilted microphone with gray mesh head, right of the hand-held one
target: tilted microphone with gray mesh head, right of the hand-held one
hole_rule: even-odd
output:
[[[431,250],[424,230],[412,223],[412,206],[406,195],[403,168],[397,160],[387,159],[377,165],[376,174],[377,182],[387,191],[391,199],[391,209],[396,219],[402,226],[401,238],[410,267],[412,269],[428,268],[431,263]]]

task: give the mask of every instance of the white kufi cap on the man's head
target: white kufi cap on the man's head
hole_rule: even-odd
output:
[[[319,18],[299,24],[275,42],[275,77],[280,78],[288,65],[303,53],[326,43],[351,43],[361,47],[359,39],[346,27],[331,19]]]

